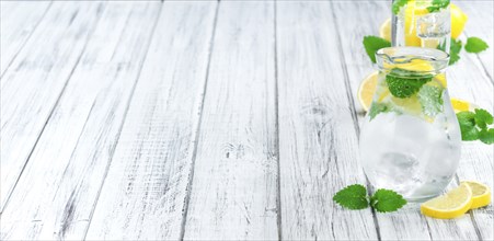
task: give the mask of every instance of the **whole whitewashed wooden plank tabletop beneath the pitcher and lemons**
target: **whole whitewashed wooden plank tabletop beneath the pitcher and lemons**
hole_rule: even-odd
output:
[[[455,2],[455,1],[453,1]],[[450,95],[494,111],[494,2]],[[1,1],[1,240],[493,240],[492,205],[452,220],[348,211],[364,35],[389,1]],[[464,144],[455,182],[493,187]]]

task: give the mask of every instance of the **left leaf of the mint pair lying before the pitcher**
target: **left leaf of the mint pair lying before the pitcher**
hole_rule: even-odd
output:
[[[360,184],[349,185],[333,196],[333,200],[348,209],[364,209],[369,206],[366,187]]]

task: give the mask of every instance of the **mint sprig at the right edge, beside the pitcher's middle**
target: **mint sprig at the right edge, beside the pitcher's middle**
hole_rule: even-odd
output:
[[[466,141],[480,140],[484,144],[494,144],[494,117],[482,108],[474,112],[460,112],[457,114],[460,124],[461,139]]]

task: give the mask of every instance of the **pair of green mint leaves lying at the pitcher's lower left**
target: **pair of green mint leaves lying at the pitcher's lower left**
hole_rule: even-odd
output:
[[[360,184],[349,185],[333,196],[333,200],[342,207],[357,210],[369,205],[379,213],[395,211],[406,205],[402,195],[391,190],[378,190],[372,196],[367,196],[367,190]]]

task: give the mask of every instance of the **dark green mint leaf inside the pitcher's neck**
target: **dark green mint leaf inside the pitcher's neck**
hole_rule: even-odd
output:
[[[386,76],[386,82],[388,83],[389,91],[392,95],[401,99],[412,96],[418,92],[422,85],[432,79],[432,74],[422,74],[416,71],[398,68],[392,69]]]

